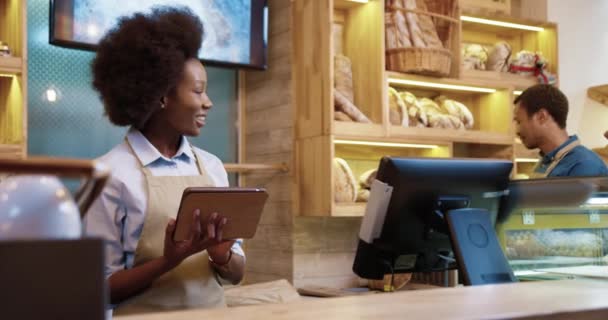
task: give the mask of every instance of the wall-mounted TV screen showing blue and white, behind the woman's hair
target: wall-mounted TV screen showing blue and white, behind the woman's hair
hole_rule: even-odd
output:
[[[203,22],[199,58],[227,67],[266,68],[266,0],[50,0],[51,44],[95,50],[121,16],[159,5],[186,6]]]

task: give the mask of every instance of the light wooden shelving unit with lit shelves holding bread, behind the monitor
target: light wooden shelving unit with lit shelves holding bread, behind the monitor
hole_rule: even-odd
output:
[[[456,78],[434,78],[386,70],[384,2],[322,0],[295,3],[292,24],[295,32],[296,206],[297,212],[302,215],[363,215],[364,203],[334,202],[334,157],[345,159],[355,178],[368,169],[376,168],[383,155],[500,158],[516,163],[514,176],[520,171],[528,173],[531,170],[531,154],[520,152],[525,148],[515,142],[512,102],[516,91],[536,84],[537,80],[534,77],[478,70],[461,70]],[[463,14],[470,15],[467,12]],[[549,61],[548,70],[557,74],[555,24],[507,16],[475,16],[544,29],[530,31],[463,21],[456,35],[461,43],[494,45],[498,41],[506,41],[513,53],[524,49],[541,51]],[[372,123],[333,120],[333,57],[337,53],[350,58],[354,104]],[[440,88],[433,86],[437,84]],[[451,89],[442,85],[486,90]],[[474,116],[473,128],[456,130],[390,125],[389,86],[398,91],[409,91],[417,97],[443,95],[462,102]],[[336,140],[363,143],[346,146],[334,143]],[[387,149],[365,145],[365,142],[412,146]],[[416,145],[435,147],[425,149]]]

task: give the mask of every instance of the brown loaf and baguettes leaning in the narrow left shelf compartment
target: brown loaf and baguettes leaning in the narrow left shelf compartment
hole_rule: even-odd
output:
[[[371,122],[354,104],[353,72],[350,59],[334,57],[334,119],[339,121]]]

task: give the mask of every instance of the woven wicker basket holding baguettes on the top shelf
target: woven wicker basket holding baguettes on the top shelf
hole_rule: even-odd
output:
[[[452,66],[452,57],[459,54],[451,37],[458,32],[460,20],[458,17],[457,0],[426,0],[428,11],[410,10],[394,6],[387,1],[386,12],[395,10],[404,13],[415,13],[431,17],[437,30],[443,48],[404,47],[386,50],[386,68],[392,71],[418,73],[431,76],[448,76]],[[387,28],[392,25],[387,21]]]

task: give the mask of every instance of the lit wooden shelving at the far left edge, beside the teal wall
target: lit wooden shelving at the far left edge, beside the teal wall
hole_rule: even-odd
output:
[[[11,56],[0,57],[0,157],[27,152],[27,3],[0,0],[0,40]]]

